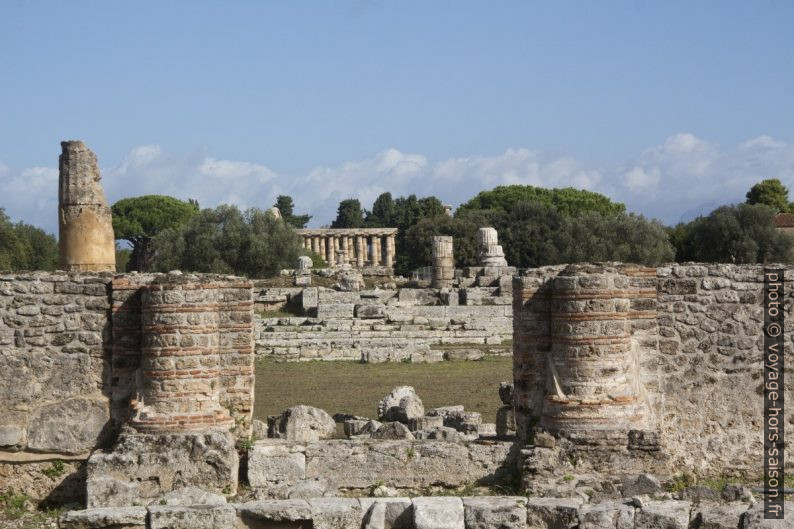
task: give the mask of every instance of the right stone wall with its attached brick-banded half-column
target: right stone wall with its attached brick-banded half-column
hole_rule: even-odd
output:
[[[762,461],[762,273],[761,266],[752,265],[648,269],[607,264],[545,267],[516,277],[519,433],[531,439],[537,431],[552,431],[585,452],[611,442],[611,455],[601,463],[614,467],[620,460],[627,472],[656,464],[671,472],[757,476]],[[794,329],[792,279],[794,269],[789,268],[787,353]],[[579,316],[573,317],[576,312]],[[623,336],[631,338],[630,344]],[[571,363],[562,361],[560,355],[568,349],[560,349],[561,344],[591,362],[578,368],[579,382],[565,372]],[[601,354],[614,356],[616,347],[619,361],[598,360]],[[624,386],[612,388],[618,381]],[[615,391],[602,395],[608,387]],[[642,418],[633,416],[636,423],[613,428],[619,422],[615,410],[629,398]],[[563,427],[554,422],[560,406],[570,408],[562,410],[561,417],[569,421]],[[647,410],[637,411],[637,406]],[[599,411],[604,407],[611,408],[606,421]],[[794,423],[794,411],[788,411],[786,422]],[[649,460],[652,453],[656,455]]]

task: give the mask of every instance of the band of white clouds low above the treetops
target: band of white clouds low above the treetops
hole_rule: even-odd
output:
[[[435,195],[458,205],[479,191],[509,184],[589,189],[625,202],[630,211],[674,223],[742,201],[750,186],[763,178],[779,178],[794,195],[794,144],[759,136],[720,148],[682,133],[614,167],[525,148],[435,162],[387,149],[297,175],[278,174],[250,161],[203,152],[177,156],[157,145],[143,145],[130,150],[118,165],[103,168],[102,175],[111,202],[157,193],[195,198],[203,207],[229,203],[267,208],[277,195],[288,194],[298,213],[314,215],[313,225],[330,223],[345,198],[358,198],[369,208],[380,193],[391,191],[394,196]],[[56,168],[17,171],[0,163],[0,185],[7,190],[5,196],[13,197],[0,207],[15,220],[55,231],[57,181]]]

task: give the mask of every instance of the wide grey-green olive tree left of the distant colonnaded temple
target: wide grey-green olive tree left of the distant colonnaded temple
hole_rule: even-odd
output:
[[[154,268],[270,277],[306,253],[295,229],[259,209],[204,209],[155,237]]]

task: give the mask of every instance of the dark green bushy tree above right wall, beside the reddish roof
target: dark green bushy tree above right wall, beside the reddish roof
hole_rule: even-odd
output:
[[[794,240],[775,229],[773,207],[722,206],[684,228],[679,260],[718,263],[790,262]]]

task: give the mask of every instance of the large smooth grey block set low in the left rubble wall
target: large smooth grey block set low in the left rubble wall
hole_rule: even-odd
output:
[[[36,410],[28,429],[28,448],[40,452],[81,454],[102,441],[110,419],[107,401],[69,399]]]

